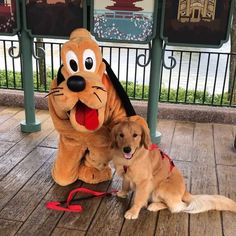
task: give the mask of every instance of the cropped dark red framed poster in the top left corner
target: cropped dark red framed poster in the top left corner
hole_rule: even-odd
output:
[[[0,35],[15,35],[20,29],[19,1],[0,0]]]

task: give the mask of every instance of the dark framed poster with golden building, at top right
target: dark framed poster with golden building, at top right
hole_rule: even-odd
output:
[[[164,0],[161,37],[170,45],[221,47],[232,9],[233,0]]]

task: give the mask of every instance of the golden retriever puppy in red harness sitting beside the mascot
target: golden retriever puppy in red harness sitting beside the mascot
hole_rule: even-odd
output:
[[[127,118],[111,132],[113,163],[123,177],[118,197],[135,191],[126,219],[138,218],[142,207],[149,211],[168,208],[171,212],[199,213],[209,210],[236,212],[236,202],[221,195],[192,195],[184,178],[167,154],[151,145],[149,129],[139,116]]]

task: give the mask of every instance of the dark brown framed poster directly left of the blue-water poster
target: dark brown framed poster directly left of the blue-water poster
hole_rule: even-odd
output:
[[[83,27],[83,0],[24,0],[25,25],[32,37],[68,38]]]

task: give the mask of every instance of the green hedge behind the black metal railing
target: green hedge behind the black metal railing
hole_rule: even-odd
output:
[[[47,84],[40,85],[40,82],[37,81],[37,74],[34,72],[33,79],[34,79],[34,88],[35,91],[47,91],[50,87],[50,82],[52,80],[51,71],[48,69],[46,70],[47,73]],[[56,71],[54,72],[54,76],[56,75]],[[7,80],[6,80],[7,78]],[[148,99],[148,91],[149,86],[141,85],[141,84],[134,84],[133,82],[126,82],[121,81],[122,86],[126,90],[128,96],[131,99],[138,99],[138,100],[147,100]],[[0,70],[0,88],[10,88],[10,89],[22,89],[21,83],[21,73],[12,71],[8,71],[7,74],[5,70]],[[195,97],[195,101],[194,101]],[[229,94],[224,93],[222,99],[222,105],[229,105],[228,101]],[[212,100],[213,99],[213,100]],[[161,88],[161,95],[160,95],[161,102],[176,102],[176,103],[190,103],[190,104],[213,104],[213,105],[221,105],[221,95],[215,95],[214,97],[209,94],[208,92],[203,91],[195,91],[188,90],[186,94],[186,90],[184,88],[176,89],[168,89],[165,86]]]

